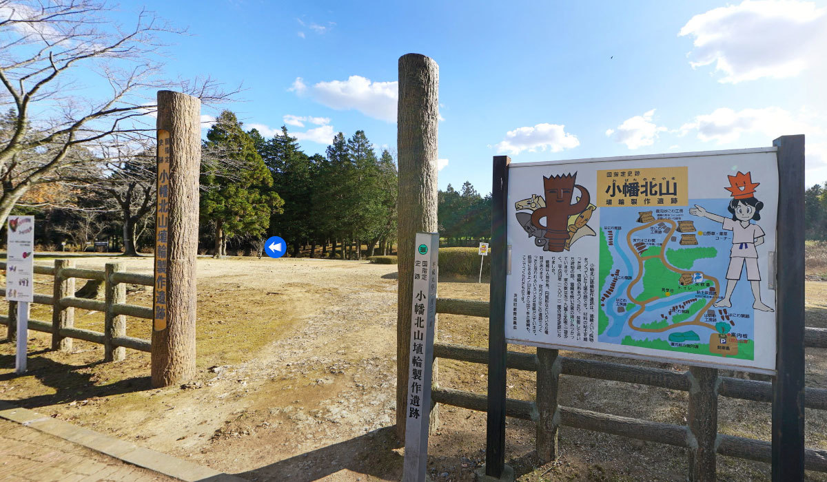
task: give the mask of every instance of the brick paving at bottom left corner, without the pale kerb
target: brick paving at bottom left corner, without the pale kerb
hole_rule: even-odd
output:
[[[0,418],[0,480],[176,480]]]

